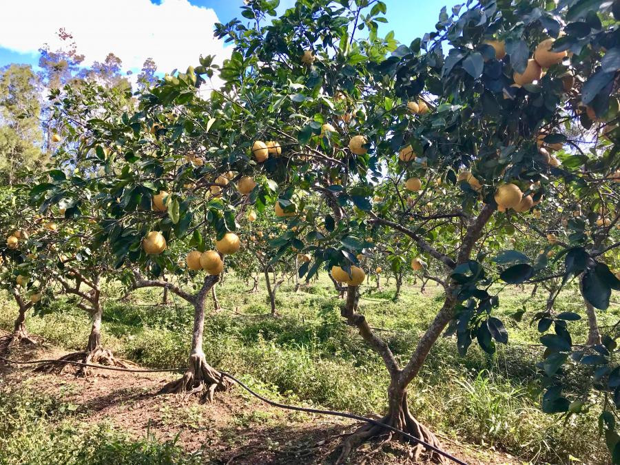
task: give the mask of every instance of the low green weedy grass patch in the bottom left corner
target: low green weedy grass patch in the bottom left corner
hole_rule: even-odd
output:
[[[136,440],[106,422],[88,424],[62,396],[0,383],[0,464],[200,464],[175,441]]]

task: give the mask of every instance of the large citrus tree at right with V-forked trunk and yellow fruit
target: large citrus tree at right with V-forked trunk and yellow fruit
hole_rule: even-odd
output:
[[[330,234],[308,249],[313,262],[301,274],[312,276],[327,265],[337,280],[357,284],[357,254],[369,247],[360,227],[370,236],[388,227],[409,238],[420,256],[414,267],[441,264],[444,304],[404,365],[356,311],[355,286],[342,313],[390,373],[382,422],[436,444],[409,413],[406,388],[437,338],[451,324],[462,353],[475,340],[493,352],[508,335],[493,316],[499,296],[490,284],[552,279],[542,263],[535,266],[527,257],[519,262],[517,254],[504,254],[501,273],[494,273],[489,252],[499,254],[506,241],[493,246],[489,239],[506,235],[515,220],[529,229],[528,212],[561,190],[579,198],[616,195],[617,111],[610,102],[617,96],[619,63],[611,4],[482,1],[442,10],[435,32],[400,46],[392,34],[378,37],[382,2],[298,2],[260,25],[272,8],[269,1],[251,1],[242,14],[259,25],[218,25],[217,34],[236,49],[220,73],[226,85],[211,103],[243,108],[238,127],[254,138],[257,160],[264,141],[276,139],[286,165],[296,165],[282,179],[281,156],[260,160],[278,180],[280,207],[293,214],[291,221],[300,222],[291,194],[296,188],[322,194],[331,207],[324,222]],[[358,30],[367,36],[355,37]],[[598,118],[605,122],[593,126]],[[588,154],[561,130],[565,124],[581,125],[597,139],[604,131],[610,141]],[[238,147],[251,138],[245,142],[240,134]],[[560,149],[564,153],[553,154]],[[437,180],[445,185],[442,194]],[[383,201],[375,205],[378,189]],[[601,230],[605,238],[609,226]],[[282,235],[288,244],[278,242],[278,254],[292,247],[293,236]],[[578,277],[584,298],[606,308],[619,283],[599,258],[601,249],[583,234],[564,245],[557,254],[566,258],[562,284]],[[561,318],[552,323],[556,333],[541,340],[550,347],[546,357],[566,360],[570,343],[549,341],[570,341],[568,324]],[[587,360],[608,365],[607,357]],[[569,404],[561,382],[553,380],[543,408],[566,412]],[[347,440],[341,458],[381,431],[362,428]]]

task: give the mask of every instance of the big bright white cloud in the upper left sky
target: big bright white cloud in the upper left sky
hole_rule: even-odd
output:
[[[213,37],[216,12],[187,0],[3,0],[0,47],[37,52],[44,43],[60,47],[56,32],[73,35],[85,64],[103,61],[109,52],[123,60],[123,70],[139,70],[152,57],[158,72],[184,72],[198,56],[230,54]]]

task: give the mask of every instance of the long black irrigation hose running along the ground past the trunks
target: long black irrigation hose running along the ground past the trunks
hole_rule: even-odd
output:
[[[30,362],[17,362],[16,360],[9,360],[8,358],[4,358],[4,357],[0,357],[0,360],[3,360],[5,362],[8,363],[14,363],[14,364],[19,364],[19,365],[34,365],[34,364],[44,364],[44,363],[62,363],[62,364],[72,364],[72,365],[78,365],[78,366],[88,366],[90,368],[94,368],[94,369],[101,369],[101,370],[111,370],[111,371],[125,371],[125,372],[130,372],[130,373],[161,373],[161,372],[176,372],[176,371],[185,371],[185,368],[173,368],[173,369],[153,369],[153,370],[136,370],[136,369],[129,369],[129,368],[118,368],[116,366],[104,366],[104,365],[94,365],[94,364],[90,364],[90,363],[83,363],[83,362],[72,362],[72,361],[65,361],[65,360],[32,360]],[[335,417],[342,417],[342,418],[349,418],[351,420],[358,420],[360,422],[366,422],[366,423],[370,423],[373,424],[375,426],[381,426],[382,428],[385,428],[389,431],[392,431],[393,433],[397,433],[402,435],[403,437],[406,437],[408,440],[412,441],[412,442],[416,442],[417,444],[422,444],[422,446],[424,446],[425,448],[431,449],[431,451],[434,451],[440,455],[443,455],[444,457],[451,459],[453,462],[455,462],[456,464],[459,465],[467,465],[466,462],[463,462],[461,459],[457,459],[457,457],[454,457],[453,455],[447,453],[446,451],[442,451],[442,449],[437,448],[431,444],[428,444],[428,442],[425,442],[415,436],[410,435],[409,433],[405,433],[404,431],[395,428],[394,426],[390,426],[389,424],[385,424],[382,422],[378,422],[377,420],[373,420],[372,418],[366,418],[366,417],[362,417],[360,415],[353,415],[353,413],[344,413],[344,412],[337,412],[337,411],[331,411],[331,410],[319,410],[319,409],[308,409],[306,407],[298,407],[298,406],[294,406],[294,405],[287,405],[287,404],[280,404],[279,402],[273,402],[273,400],[269,400],[266,397],[262,397],[262,395],[252,391],[249,386],[247,386],[245,383],[241,382],[240,380],[238,380],[237,378],[235,378],[233,375],[230,375],[229,373],[226,373],[225,371],[220,371],[220,374],[222,375],[222,377],[226,377],[229,378],[230,380],[233,380],[234,382],[236,382],[236,384],[238,384],[239,386],[241,386],[243,389],[245,389],[247,392],[249,392],[251,395],[254,395],[254,397],[262,400],[262,402],[265,402],[266,404],[272,405],[274,407],[278,407],[278,409],[285,409],[285,410],[293,410],[293,411],[298,411],[298,412],[306,412],[306,413],[316,413],[318,415],[332,415]]]

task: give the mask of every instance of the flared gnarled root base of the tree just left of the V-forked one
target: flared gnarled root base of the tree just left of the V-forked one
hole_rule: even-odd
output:
[[[213,402],[216,391],[226,391],[230,386],[230,380],[209,366],[204,353],[192,353],[189,355],[189,369],[183,378],[169,382],[159,394],[196,394],[200,402]]]

